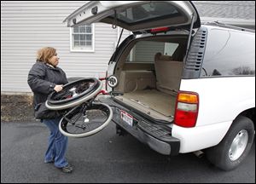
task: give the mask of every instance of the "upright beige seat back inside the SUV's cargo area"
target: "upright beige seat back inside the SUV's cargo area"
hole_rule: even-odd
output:
[[[183,62],[172,60],[172,56],[156,53],[154,67],[156,89],[166,94],[176,95],[182,78]]]

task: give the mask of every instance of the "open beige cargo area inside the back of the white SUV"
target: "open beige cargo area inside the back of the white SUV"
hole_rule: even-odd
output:
[[[119,80],[114,91],[124,95],[114,98],[151,118],[172,122],[186,37],[165,38],[137,41],[125,50],[114,71]]]

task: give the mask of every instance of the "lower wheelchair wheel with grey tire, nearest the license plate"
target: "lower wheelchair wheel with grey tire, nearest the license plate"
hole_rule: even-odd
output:
[[[85,104],[85,105],[84,105]],[[113,118],[110,106],[92,102],[75,106],[61,118],[59,129],[61,134],[69,137],[86,137],[104,129]]]

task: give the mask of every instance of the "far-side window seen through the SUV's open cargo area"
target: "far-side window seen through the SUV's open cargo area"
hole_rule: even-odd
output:
[[[178,43],[140,41],[133,46],[125,62],[154,63],[154,55],[156,53],[172,56],[178,45]]]

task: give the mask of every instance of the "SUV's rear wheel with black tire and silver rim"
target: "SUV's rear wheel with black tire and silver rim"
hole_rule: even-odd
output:
[[[224,139],[206,150],[207,158],[222,170],[234,170],[247,157],[253,138],[253,121],[240,116],[235,119]]]

